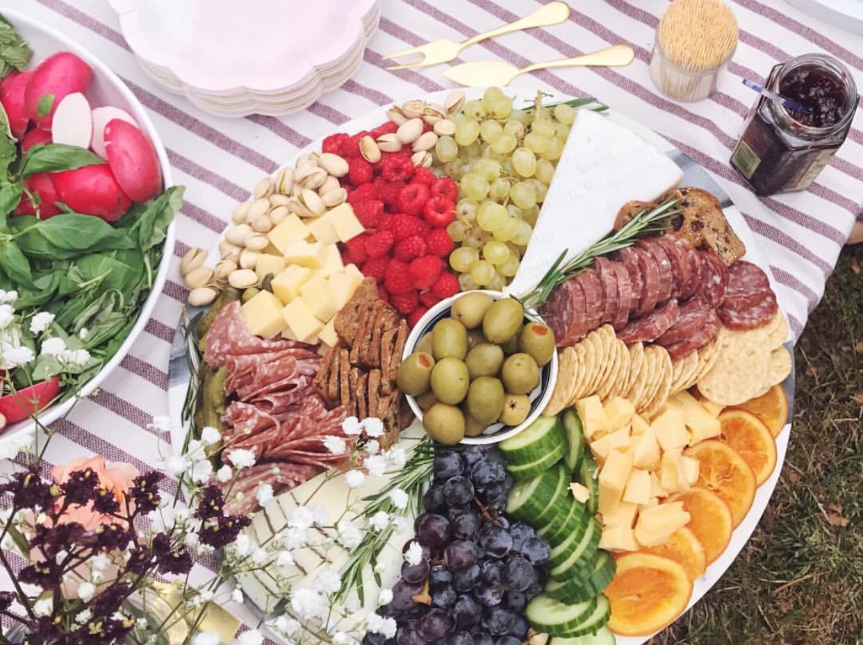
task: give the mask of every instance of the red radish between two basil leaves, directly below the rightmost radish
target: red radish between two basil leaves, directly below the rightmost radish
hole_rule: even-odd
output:
[[[117,222],[132,205],[107,164],[54,172],[53,179],[60,202],[105,222]]]

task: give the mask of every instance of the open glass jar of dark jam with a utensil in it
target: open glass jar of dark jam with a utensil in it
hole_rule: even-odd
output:
[[[808,111],[759,97],[731,165],[756,195],[805,191],[845,141],[859,100],[857,86],[839,60],[807,53],[774,66],[767,88]]]

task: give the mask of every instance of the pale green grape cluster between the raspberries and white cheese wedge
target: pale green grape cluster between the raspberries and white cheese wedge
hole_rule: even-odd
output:
[[[434,156],[459,185],[447,232],[458,245],[450,266],[463,291],[501,289],[515,275],[575,117],[565,103],[513,110],[497,87],[450,116],[456,133],[438,138]]]

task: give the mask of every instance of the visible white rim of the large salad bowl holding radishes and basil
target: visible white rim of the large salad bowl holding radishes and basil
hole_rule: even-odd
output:
[[[17,32],[21,34],[24,40],[28,41],[30,47],[33,49],[33,59],[30,63],[30,67],[35,66],[41,62],[42,59],[47,58],[51,54],[60,51],[72,52],[84,59],[93,69],[93,78],[86,92],[91,105],[94,108],[100,105],[113,105],[117,108],[126,110],[130,115],[134,116],[135,121],[138,122],[138,125],[142,128],[144,133],[149,137],[150,141],[153,142],[156,154],[159,157],[165,187],[167,188],[168,186],[173,185],[171,166],[167,160],[165,147],[162,145],[153,122],[150,121],[147,110],[145,110],[144,106],[137,98],[135,98],[132,91],[123,84],[123,81],[117,77],[117,74],[111,72],[108,66],[96,58],[92,53],[88,52],[84,47],[81,47],[78,43],[69,40],[65,35],[60,34],[60,32],[9,9],[3,9],[3,16],[5,16],[9,22],[15,26]],[[108,375],[114,371],[114,368],[120,364],[123,358],[125,358],[126,354],[129,354],[129,349],[131,349],[132,345],[135,344],[137,337],[141,335],[144,325],[147,324],[150,315],[153,313],[156,301],[161,295],[162,287],[165,285],[168,268],[171,266],[171,258],[173,257],[175,235],[175,225],[171,222],[171,225],[168,226],[167,229],[167,237],[162,244],[162,260],[153,281],[153,288],[150,291],[147,300],[145,300],[141,305],[141,312],[138,314],[138,320],[135,323],[135,326],[129,332],[126,340],[123,341],[123,345],[121,345],[117,350],[117,354],[114,354],[114,356],[105,363],[102,370],[81,387],[78,392],[79,397],[87,397],[96,391],[104,379],[106,379]],[[76,398],[72,397],[61,404],[52,405],[42,411],[39,415],[40,423],[47,425],[48,423],[53,423],[63,416],[66,416],[69,410],[72,410],[72,406],[75,404],[75,401]],[[3,430],[3,433],[0,436],[5,437],[15,434],[16,432],[27,429],[32,425],[33,422],[30,420],[10,423]]]

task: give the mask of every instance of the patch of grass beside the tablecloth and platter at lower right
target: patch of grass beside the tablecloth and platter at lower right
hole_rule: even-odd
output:
[[[863,244],[845,248],[797,344],[791,445],[758,529],[651,645],[863,643],[861,266]]]

